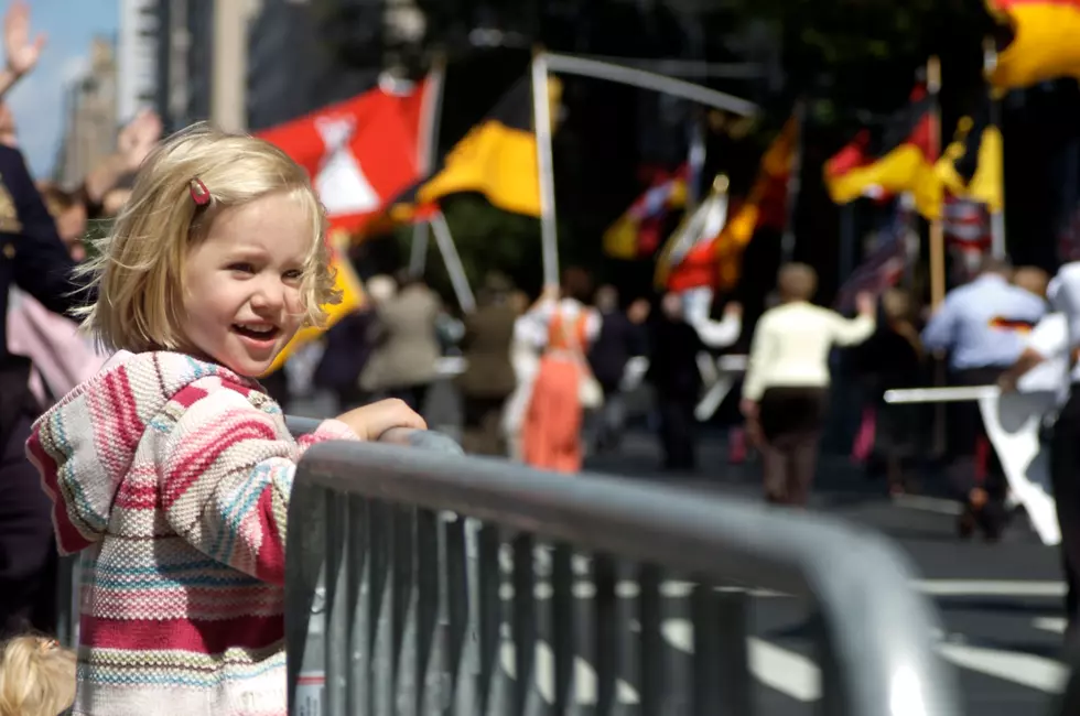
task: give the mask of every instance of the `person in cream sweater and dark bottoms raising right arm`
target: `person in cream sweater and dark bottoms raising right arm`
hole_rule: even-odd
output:
[[[858,316],[847,319],[811,304],[818,275],[803,263],[781,267],[777,288],[780,304],[754,330],[742,410],[762,443],[766,499],[804,506],[824,420],[829,351],[870,338],[876,306],[860,294]]]

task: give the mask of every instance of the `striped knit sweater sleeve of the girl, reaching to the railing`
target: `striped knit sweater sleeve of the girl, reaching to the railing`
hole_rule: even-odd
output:
[[[169,525],[213,560],[271,584],[284,584],[285,521],[301,455],[315,443],[356,440],[327,420],[294,442],[280,417],[226,387],[190,386],[184,406],[158,445],[155,463]]]

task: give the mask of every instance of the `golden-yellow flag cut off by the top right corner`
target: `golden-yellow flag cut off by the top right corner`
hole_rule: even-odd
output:
[[[986,0],[986,9],[1012,34],[990,73],[994,87],[1080,78],[1080,0]]]

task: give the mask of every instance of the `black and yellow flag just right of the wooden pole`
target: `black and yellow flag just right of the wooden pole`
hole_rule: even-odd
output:
[[[990,98],[974,118],[964,117],[935,171],[941,187],[957,198],[984,204],[996,214],[1004,208],[1001,130],[990,122]]]

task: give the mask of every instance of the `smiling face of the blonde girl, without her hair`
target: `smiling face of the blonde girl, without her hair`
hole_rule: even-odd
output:
[[[225,209],[191,249],[184,337],[248,377],[266,372],[304,318],[300,284],[313,240],[299,202],[276,193]]]

